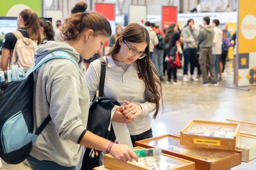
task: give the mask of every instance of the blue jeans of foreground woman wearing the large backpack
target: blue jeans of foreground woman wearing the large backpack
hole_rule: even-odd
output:
[[[75,166],[66,167],[66,166],[59,165],[53,161],[38,160],[30,155],[28,156],[27,160],[31,166],[31,169],[33,170],[76,170]]]

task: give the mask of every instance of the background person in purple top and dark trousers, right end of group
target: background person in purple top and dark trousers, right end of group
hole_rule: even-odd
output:
[[[221,56],[221,58],[222,58],[223,69],[220,70],[220,71],[224,72],[225,65],[226,65],[226,57],[228,56],[228,49],[229,49],[229,47],[232,46],[232,43],[230,42],[230,40],[228,38],[227,31],[224,29],[222,32],[223,32],[223,39],[222,39],[223,43],[222,43],[222,56]],[[222,78],[222,77],[220,76],[220,78]]]

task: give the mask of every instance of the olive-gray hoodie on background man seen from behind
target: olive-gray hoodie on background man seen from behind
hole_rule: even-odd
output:
[[[203,27],[199,31],[197,42],[199,48],[212,48],[214,31],[212,26]]]

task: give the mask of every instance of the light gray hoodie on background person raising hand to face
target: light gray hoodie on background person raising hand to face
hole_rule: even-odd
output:
[[[182,29],[182,36],[184,38],[184,49],[197,48],[198,31],[192,30],[190,26],[186,26]]]

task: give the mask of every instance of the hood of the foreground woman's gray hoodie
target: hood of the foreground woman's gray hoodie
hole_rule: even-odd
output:
[[[40,62],[47,54],[58,50],[69,53],[76,63],[79,62],[80,54],[68,43],[48,41],[46,44],[37,46],[36,54],[34,55],[35,63]]]

